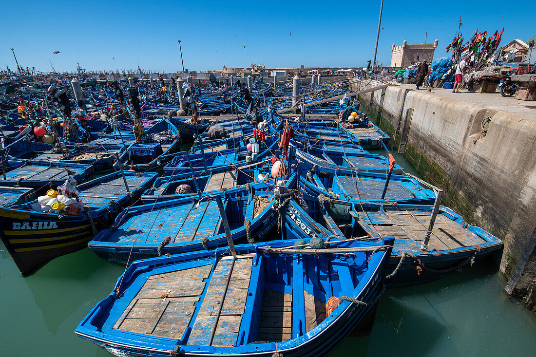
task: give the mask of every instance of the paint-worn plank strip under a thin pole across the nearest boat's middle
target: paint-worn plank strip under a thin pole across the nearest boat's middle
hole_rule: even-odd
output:
[[[247,300],[252,259],[236,260],[224,297],[232,262],[232,259],[221,260],[214,269],[203,304],[188,339],[189,345],[210,345],[220,305],[221,315],[211,346],[235,345]]]

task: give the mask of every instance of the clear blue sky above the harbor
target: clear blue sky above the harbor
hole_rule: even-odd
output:
[[[4,1],[0,66],[16,69],[13,47],[21,65],[41,71],[51,70],[50,58],[57,71],[73,71],[77,62],[88,70],[135,69],[139,62],[142,69],[174,72],[181,69],[178,39],[184,66],[190,70],[251,62],[267,67],[360,66],[374,55],[379,4],[379,0]],[[445,56],[460,14],[466,39],[477,27],[493,33],[504,26],[502,44],[536,36],[532,2],[446,4],[385,0],[377,61],[389,65],[393,42],[421,43],[426,32],[428,43],[439,40],[435,57]]]

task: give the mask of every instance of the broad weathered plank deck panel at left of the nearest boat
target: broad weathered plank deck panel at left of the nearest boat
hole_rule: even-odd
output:
[[[180,339],[190,324],[212,265],[204,265],[147,279],[126,307],[114,329]]]

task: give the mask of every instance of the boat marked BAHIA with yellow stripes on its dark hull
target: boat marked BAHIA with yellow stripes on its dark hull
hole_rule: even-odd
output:
[[[56,257],[87,247],[87,242],[124,205],[134,202],[147,189],[157,174],[125,172],[130,194],[121,173],[113,173],[77,187],[85,209],[77,215],[62,218],[56,213],[37,210],[36,201],[0,207],[0,237],[21,273]]]

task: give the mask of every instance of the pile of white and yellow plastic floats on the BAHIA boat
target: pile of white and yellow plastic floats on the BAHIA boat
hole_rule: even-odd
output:
[[[32,209],[44,213],[56,213],[59,219],[77,215],[84,208],[84,203],[78,198],[79,194],[80,191],[66,180],[62,186],[58,186],[57,191],[48,190],[46,195],[39,196]]]

